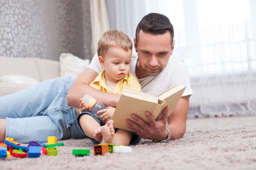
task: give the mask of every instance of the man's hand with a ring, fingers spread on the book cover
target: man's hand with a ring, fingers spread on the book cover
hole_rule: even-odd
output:
[[[144,139],[152,139],[156,141],[164,140],[168,136],[166,130],[167,114],[169,106],[163,109],[162,117],[158,121],[155,121],[154,117],[149,113],[145,112],[145,116],[148,119],[148,124],[144,122],[136,114],[132,114],[131,118],[137,123],[126,119],[127,127],[133,130],[135,133],[140,135]]]

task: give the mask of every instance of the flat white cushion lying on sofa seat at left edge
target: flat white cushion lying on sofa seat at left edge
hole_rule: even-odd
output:
[[[0,82],[15,83],[15,84],[22,84],[22,85],[35,85],[39,83],[38,80],[33,79],[32,77],[16,75],[16,74],[2,76],[0,77]]]

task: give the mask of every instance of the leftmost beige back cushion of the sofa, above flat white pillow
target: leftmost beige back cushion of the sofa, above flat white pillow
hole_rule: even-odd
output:
[[[35,58],[18,58],[0,56],[0,77],[18,74],[41,81]]]

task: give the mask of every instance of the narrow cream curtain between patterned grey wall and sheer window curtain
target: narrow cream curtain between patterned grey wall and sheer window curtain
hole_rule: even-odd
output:
[[[105,0],[90,0],[92,27],[92,56],[97,53],[101,35],[109,30],[108,11]]]

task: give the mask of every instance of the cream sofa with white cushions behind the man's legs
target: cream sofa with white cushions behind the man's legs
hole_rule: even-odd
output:
[[[41,58],[0,56],[0,96],[12,94],[56,77],[77,77],[90,63],[73,54],[63,53],[59,61]]]

